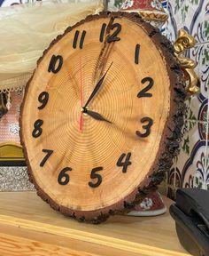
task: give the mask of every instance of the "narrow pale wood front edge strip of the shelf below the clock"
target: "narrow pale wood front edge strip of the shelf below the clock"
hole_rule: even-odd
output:
[[[114,249],[120,249],[127,252],[143,253],[143,255],[155,256],[188,256],[188,253],[171,252],[166,249],[149,246],[146,244],[133,243],[122,239],[117,239],[112,236],[101,236],[81,230],[75,230],[74,228],[59,228],[54,225],[40,223],[33,220],[23,220],[14,218],[11,216],[0,215],[0,223],[10,225],[17,228],[30,229],[42,233],[49,233],[57,236],[63,236],[73,238],[79,241],[104,245],[112,247]],[[41,225],[40,225],[41,224]]]

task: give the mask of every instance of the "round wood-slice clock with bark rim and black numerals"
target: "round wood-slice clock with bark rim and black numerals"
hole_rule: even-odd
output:
[[[38,60],[21,107],[38,195],[92,223],[130,211],[171,167],[184,97],[172,45],[137,14],[67,28]]]

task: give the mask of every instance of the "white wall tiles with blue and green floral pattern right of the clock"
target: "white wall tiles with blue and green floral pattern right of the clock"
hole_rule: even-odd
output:
[[[197,44],[187,56],[197,61],[201,81],[200,94],[187,100],[181,152],[168,173],[168,195],[174,198],[176,188],[209,190],[208,96],[209,96],[209,1],[169,0],[169,20],[164,33],[171,40],[180,28],[195,36]]]

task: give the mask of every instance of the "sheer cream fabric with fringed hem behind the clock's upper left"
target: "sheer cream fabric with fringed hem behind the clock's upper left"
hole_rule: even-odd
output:
[[[36,61],[55,37],[102,10],[102,0],[35,2],[0,8],[0,92],[24,86]]]

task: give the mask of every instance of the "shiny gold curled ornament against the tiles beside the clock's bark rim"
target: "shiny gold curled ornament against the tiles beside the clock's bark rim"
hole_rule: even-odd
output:
[[[179,30],[178,38],[174,42],[174,52],[175,56],[177,57],[182,66],[185,79],[189,83],[187,90],[188,92],[190,92],[190,94],[196,94],[197,92],[199,92],[200,81],[194,70],[194,68],[197,66],[197,62],[195,60],[191,60],[182,56],[182,54],[186,50],[194,47],[195,44],[196,40],[193,36],[188,34],[183,28]]]

